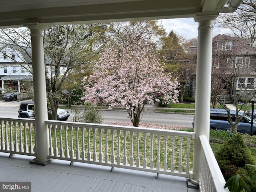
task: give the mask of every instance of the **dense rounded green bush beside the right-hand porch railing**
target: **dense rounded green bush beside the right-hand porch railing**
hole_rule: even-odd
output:
[[[228,139],[215,154],[220,170],[226,180],[235,174],[238,170],[248,178],[252,176],[253,168],[246,164],[256,164],[252,157],[242,134],[234,134]],[[249,181],[248,181],[249,182]],[[256,189],[255,184],[251,188]]]

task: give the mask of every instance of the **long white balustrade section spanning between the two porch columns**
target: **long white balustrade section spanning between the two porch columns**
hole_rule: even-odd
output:
[[[194,132],[49,120],[49,158],[189,177]]]

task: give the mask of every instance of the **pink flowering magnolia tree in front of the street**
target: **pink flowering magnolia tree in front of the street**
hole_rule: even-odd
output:
[[[94,73],[84,77],[85,102],[124,106],[133,126],[139,126],[145,104],[178,102],[178,82],[165,74],[149,40],[129,36],[124,44],[108,45],[94,63]]]

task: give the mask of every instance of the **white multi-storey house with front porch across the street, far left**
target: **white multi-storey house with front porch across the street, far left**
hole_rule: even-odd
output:
[[[55,74],[51,60],[45,56],[46,75],[50,78]],[[60,74],[64,74],[66,67],[60,67]],[[25,46],[2,46],[0,48],[0,88],[2,94],[8,90],[33,92],[31,48]],[[26,86],[23,83],[26,82]]]

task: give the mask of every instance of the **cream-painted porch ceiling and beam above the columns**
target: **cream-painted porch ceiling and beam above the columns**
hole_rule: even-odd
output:
[[[30,22],[46,25],[81,22],[194,17],[220,12],[228,0],[3,0],[0,27]]]

